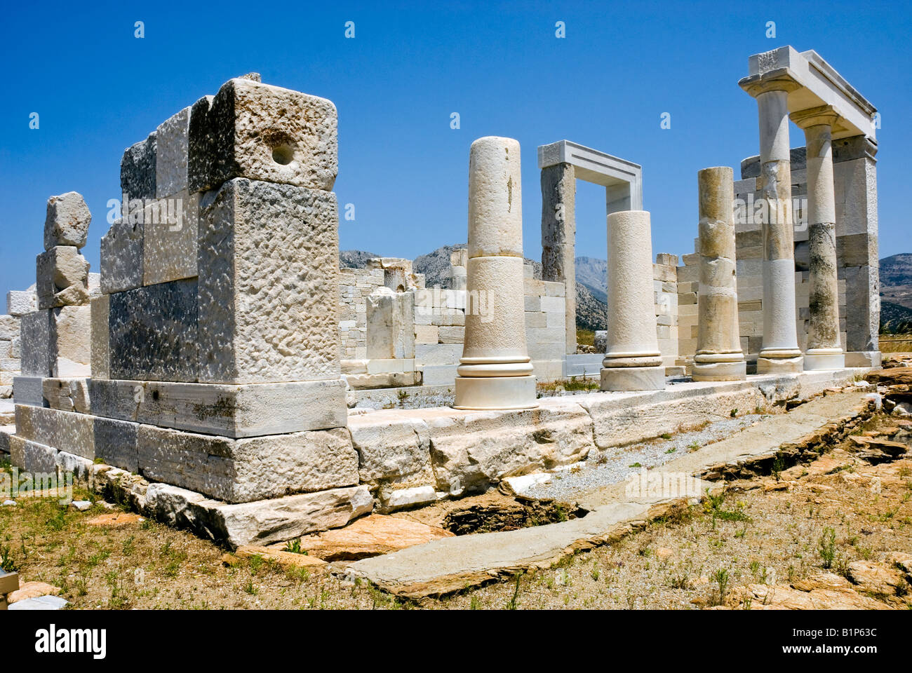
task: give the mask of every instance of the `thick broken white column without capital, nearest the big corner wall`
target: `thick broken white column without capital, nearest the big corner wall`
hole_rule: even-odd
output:
[[[475,140],[469,157],[469,264],[456,409],[531,409],[525,346],[519,142]]]

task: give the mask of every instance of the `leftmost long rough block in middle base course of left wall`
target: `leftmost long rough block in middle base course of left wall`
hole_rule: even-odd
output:
[[[16,435],[89,461],[95,458],[94,417],[87,414],[16,405]]]

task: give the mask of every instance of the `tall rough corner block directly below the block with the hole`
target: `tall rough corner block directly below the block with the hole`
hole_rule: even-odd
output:
[[[332,192],[236,179],[206,194],[201,381],[339,377],[337,226]]]

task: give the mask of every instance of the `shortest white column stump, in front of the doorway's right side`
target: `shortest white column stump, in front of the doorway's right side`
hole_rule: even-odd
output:
[[[653,303],[649,213],[607,216],[608,334],[603,390],[660,390],[665,368],[658,350]]]

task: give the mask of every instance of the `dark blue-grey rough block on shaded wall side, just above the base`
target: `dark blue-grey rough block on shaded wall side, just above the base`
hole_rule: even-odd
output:
[[[195,381],[196,280],[109,295],[110,378]]]

